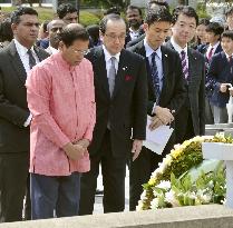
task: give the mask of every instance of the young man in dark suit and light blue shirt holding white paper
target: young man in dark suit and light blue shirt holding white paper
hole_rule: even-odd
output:
[[[145,22],[145,39],[132,47],[130,51],[145,58],[148,77],[148,101],[147,113],[153,116],[152,129],[162,125],[172,123],[186,97],[185,81],[178,54],[163,47],[167,32],[169,31],[172,16],[167,9],[161,8],[148,11]],[[156,93],[155,76],[153,75],[153,54],[156,53],[155,63],[159,78],[159,92]],[[174,68],[175,66],[175,68]],[[172,123],[173,127],[174,122]],[[174,136],[165,151],[157,155],[147,148],[143,150],[137,160],[130,163],[129,178],[129,209],[135,210],[143,192],[142,185],[147,182],[152,171],[174,145]]]

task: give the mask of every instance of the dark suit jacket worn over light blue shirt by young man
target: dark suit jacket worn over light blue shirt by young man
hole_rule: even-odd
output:
[[[144,41],[140,41],[139,43],[133,46],[128,50],[146,58]],[[175,113],[177,113],[186,97],[185,80],[183,77],[181,59],[176,51],[171,50],[166,47],[162,46],[161,51],[162,51],[164,80],[163,80],[163,88],[158,105],[161,107],[175,110]],[[154,103],[156,102],[156,97],[153,88],[151,67],[147,59],[146,59],[146,66],[147,66],[147,77],[148,77],[147,113],[152,115]],[[176,67],[174,68],[174,66]]]

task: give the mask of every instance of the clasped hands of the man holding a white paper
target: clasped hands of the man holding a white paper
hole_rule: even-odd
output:
[[[171,125],[172,121],[174,120],[174,116],[173,116],[174,112],[175,112],[174,110],[171,111],[167,108],[162,108],[159,106],[156,106],[154,110],[155,116],[152,117],[149,129],[155,130],[159,126]]]

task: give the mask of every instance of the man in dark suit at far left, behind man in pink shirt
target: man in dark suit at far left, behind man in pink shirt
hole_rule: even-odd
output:
[[[0,52],[0,222],[22,218],[31,119],[25,82],[30,68],[48,57],[32,47],[39,30],[37,11],[19,8],[11,22],[14,39]]]

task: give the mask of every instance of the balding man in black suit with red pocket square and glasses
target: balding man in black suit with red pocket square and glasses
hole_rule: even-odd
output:
[[[79,215],[93,214],[99,163],[104,212],[125,209],[126,161],[130,151],[137,158],[146,135],[144,59],[124,49],[126,24],[119,16],[106,16],[100,34],[104,44],[87,54],[94,68],[97,119],[89,147],[90,171],[81,177]]]

